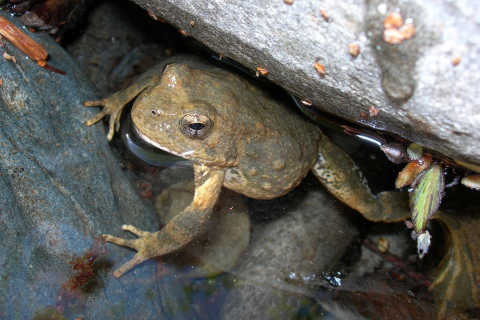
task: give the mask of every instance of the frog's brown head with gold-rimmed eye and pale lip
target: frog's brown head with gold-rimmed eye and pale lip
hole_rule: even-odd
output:
[[[196,163],[236,165],[236,129],[225,110],[235,108],[237,99],[224,90],[222,76],[185,64],[166,66],[158,83],[135,101],[132,120],[138,134]]]

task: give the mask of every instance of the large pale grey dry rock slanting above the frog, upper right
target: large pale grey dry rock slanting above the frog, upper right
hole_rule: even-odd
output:
[[[266,68],[267,78],[321,110],[480,164],[477,2],[134,1],[214,51]],[[397,9],[413,19],[416,36],[389,45],[383,20]],[[360,45],[356,58],[351,43]],[[362,119],[370,106],[379,115]]]

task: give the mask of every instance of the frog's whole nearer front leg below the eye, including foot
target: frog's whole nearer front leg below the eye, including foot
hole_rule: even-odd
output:
[[[220,194],[225,170],[196,164],[193,167],[195,171],[193,202],[162,230],[150,233],[124,225],[123,230],[132,232],[139,236],[139,239],[122,239],[105,235],[106,241],[138,251],[130,261],[115,270],[113,275],[116,278],[145,260],[170,253],[190,242],[208,219]]]

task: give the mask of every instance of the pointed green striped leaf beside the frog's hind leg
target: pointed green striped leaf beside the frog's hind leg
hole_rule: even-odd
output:
[[[412,186],[413,191],[410,192],[412,221],[415,231],[422,234],[442,201],[445,188],[442,165],[432,163],[417,177]]]

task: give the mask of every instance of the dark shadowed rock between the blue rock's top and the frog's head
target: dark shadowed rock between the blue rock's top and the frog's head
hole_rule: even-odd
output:
[[[166,54],[160,27],[132,3],[102,1],[92,6],[82,33],[67,39],[65,47],[105,97]]]

